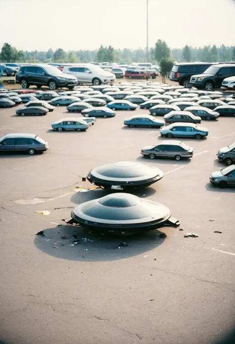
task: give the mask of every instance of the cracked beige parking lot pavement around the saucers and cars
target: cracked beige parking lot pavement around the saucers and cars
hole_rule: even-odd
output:
[[[0,156],[1,339],[208,344],[227,333],[234,320],[235,192],[211,186],[209,175],[224,166],[216,153],[235,141],[235,118],[202,121],[208,138],[183,140],[194,148],[191,160],[150,160],[140,150],[164,140],[159,130],[123,126],[126,117],[148,110],[117,111],[87,132],[59,133],[51,124],[71,117],[65,107],[43,117],[16,116],[19,107],[0,109],[0,136],[35,133],[49,149]],[[136,195],[168,206],[183,231],[166,227],[166,238],[160,231],[109,238],[61,220],[77,204],[107,194],[79,192],[92,186],[82,177],[121,160],[164,171]],[[35,236],[41,230],[45,237]],[[187,232],[199,237],[184,238]],[[72,244],[74,234],[83,238],[80,245]],[[122,241],[128,246],[118,249]]]

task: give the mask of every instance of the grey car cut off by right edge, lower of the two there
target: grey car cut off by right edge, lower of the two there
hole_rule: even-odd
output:
[[[220,171],[212,172],[210,175],[210,182],[219,188],[227,188],[228,186],[235,186],[235,165],[230,165],[222,168]]]

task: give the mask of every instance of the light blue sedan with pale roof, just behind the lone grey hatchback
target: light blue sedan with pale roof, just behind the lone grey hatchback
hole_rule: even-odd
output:
[[[160,134],[163,137],[189,137],[189,138],[204,138],[208,135],[208,129],[199,127],[194,123],[173,123],[169,126],[160,129]]]

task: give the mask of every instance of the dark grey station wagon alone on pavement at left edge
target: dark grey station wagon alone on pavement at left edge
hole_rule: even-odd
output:
[[[35,134],[6,134],[0,138],[0,152],[23,152],[30,155],[49,148],[48,142]]]

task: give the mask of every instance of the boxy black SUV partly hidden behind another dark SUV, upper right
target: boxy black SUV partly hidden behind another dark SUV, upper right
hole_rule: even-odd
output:
[[[203,73],[213,63],[180,63],[175,64],[170,73],[170,80],[178,81],[184,87],[189,87],[190,77],[194,74]]]

